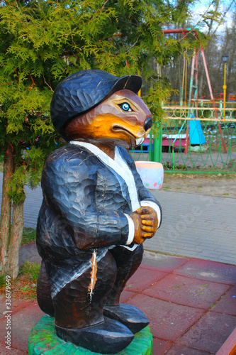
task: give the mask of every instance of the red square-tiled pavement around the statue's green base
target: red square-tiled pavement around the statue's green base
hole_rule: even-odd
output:
[[[140,266],[122,302],[149,317],[153,355],[215,354],[236,327],[236,266],[175,256],[164,260]],[[13,303],[8,350],[5,310],[1,298],[0,354],[27,354],[30,329],[43,312],[32,300]]]

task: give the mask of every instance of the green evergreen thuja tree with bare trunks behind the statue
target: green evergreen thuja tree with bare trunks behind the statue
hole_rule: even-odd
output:
[[[146,101],[162,114],[169,82],[150,70],[181,54],[188,40],[165,38],[162,28],[186,21],[191,0],[38,0],[0,4],[0,153],[4,156],[0,270],[18,274],[24,187],[40,181],[45,156],[62,141],[50,121],[57,84],[84,69],[142,75]]]

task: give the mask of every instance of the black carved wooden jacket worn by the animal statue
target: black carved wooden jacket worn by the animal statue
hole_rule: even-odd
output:
[[[125,148],[116,149],[133,173],[138,200],[159,206],[142,184],[131,155]],[[63,287],[62,279],[66,284],[89,267],[94,249],[99,261],[109,247],[126,244],[125,214],[133,206],[125,180],[84,146],[68,144],[48,155],[41,185],[37,246],[53,296]]]

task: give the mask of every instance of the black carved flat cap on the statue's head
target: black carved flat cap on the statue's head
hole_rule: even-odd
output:
[[[64,128],[75,117],[94,109],[114,92],[140,90],[141,77],[116,77],[102,70],[82,70],[69,75],[57,85],[52,96],[51,119],[55,129],[64,136]]]

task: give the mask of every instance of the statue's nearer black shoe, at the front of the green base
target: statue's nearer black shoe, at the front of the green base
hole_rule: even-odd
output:
[[[82,329],[68,329],[56,325],[57,337],[101,354],[116,354],[133,340],[133,333],[120,322],[104,317],[101,322]]]

